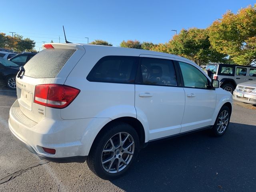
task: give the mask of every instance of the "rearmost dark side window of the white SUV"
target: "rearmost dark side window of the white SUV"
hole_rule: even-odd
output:
[[[138,57],[106,56],[101,58],[87,76],[88,81],[134,83]]]

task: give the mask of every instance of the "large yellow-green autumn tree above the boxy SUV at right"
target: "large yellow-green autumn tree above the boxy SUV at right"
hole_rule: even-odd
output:
[[[209,36],[212,47],[236,64],[256,62],[256,4],[237,14],[226,12],[209,27]]]

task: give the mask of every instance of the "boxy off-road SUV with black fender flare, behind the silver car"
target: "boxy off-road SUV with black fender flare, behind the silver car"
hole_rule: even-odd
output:
[[[256,67],[232,64],[208,64],[208,75],[220,81],[220,87],[233,94],[238,83],[256,80]]]

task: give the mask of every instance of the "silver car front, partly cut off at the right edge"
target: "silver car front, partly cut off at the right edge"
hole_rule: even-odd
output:
[[[240,83],[233,92],[234,100],[256,104],[256,81]]]

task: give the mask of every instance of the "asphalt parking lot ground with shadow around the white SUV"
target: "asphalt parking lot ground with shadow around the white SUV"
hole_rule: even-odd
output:
[[[107,181],[90,172],[86,163],[42,162],[22,148],[8,128],[8,112],[15,100],[15,91],[0,88],[1,192],[256,191],[256,107],[252,105],[234,103],[224,136],[214,138],[203,131],[154,142],[141,150],[126,175]]]

